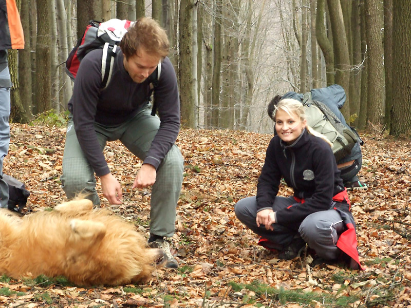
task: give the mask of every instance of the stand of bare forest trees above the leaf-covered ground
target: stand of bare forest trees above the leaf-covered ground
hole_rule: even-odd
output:
[[[166,29],[183,126],[271,132],[275,94],[344,87],[358,130],[411,135],[408,0],[17,0],[12,121],[67,110],[64,61],[90,20],[152,16]],[[394,82],[395,81],[395,82]]]

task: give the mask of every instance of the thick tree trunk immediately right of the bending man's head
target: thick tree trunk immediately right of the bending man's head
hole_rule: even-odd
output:
[[[197,75],[193,75],[193,3],[192,0],[181,0],[180,2],[180,99],[181,119],[184,125],[192,128],[197,127],[197,91],[195,83]],[[195,33],[194,37],[197,37]],[[197,73],[196,73],[197,74]]]

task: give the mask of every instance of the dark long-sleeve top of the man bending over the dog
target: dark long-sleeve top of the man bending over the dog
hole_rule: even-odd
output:
[[[97,140],[94,123],[117,126],[147,107],[148,81],[135,83],[124,69],[120,51],[114,60],[110,83],[101,89],[102,49],[90,51],[81,61],[68,109],[85,156],[97,176],[110,172]],[[180,102],[177,79],[170,60],[161,63],[161,74],[154,92],[160,128],[143,163],[159,166],[177,139],[180,130]]]

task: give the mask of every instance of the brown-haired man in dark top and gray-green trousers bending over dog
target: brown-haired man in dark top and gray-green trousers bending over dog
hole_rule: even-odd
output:
[[[107,141],[120,140],[143,164],[134,188],[152,187],[148,244],[164,249],[167,267],[178,267],[170,252],[175,231],[183,160],[174,144],[180,129],[180,103],[176,74],[170,60],[169,41],[159,24],[142,17],[128,29],[116,54],[111,79],[102,89],[102,49],[90,51],[80,63],[68,103],[63,155],[62,188],[68,199],[80,192],[100,204],[95,174],[110,204],[121,204],[120,183],[111,174],[103,155]],[[147,80],[161,60],[154,92],[159,117],[151,115]]]

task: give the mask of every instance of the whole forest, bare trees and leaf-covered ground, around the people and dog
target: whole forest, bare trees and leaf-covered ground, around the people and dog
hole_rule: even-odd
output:
[[[82,288],[62,279],[2,276],[1,306],[411,304],[411,1],[16,2],[26,48],[9,53],[14,87],[3,170],[30,190],[27,213],[65,201],[59,177],[72,82],[64,61],[88,21],[146,15],[167,30],[181,94],[184,180],[173,237],[180,268],[156,269],[140,286]],[[342,112],[365,141],[360,176],[369,189],[349,194],[365,271],[313,266],[307,251],[279,260],[256,245],[233,211],[236,201],[255,194],[273,132],[269,100],[333,83],[344,87]],[[119,142],[104,152],[124,186],[122,205],[111,207],[98,191],[103,206],[147,235],[150,192],[130,189],[140,163],[125,153]],[[281,194],[291,189],[282,186]]]

